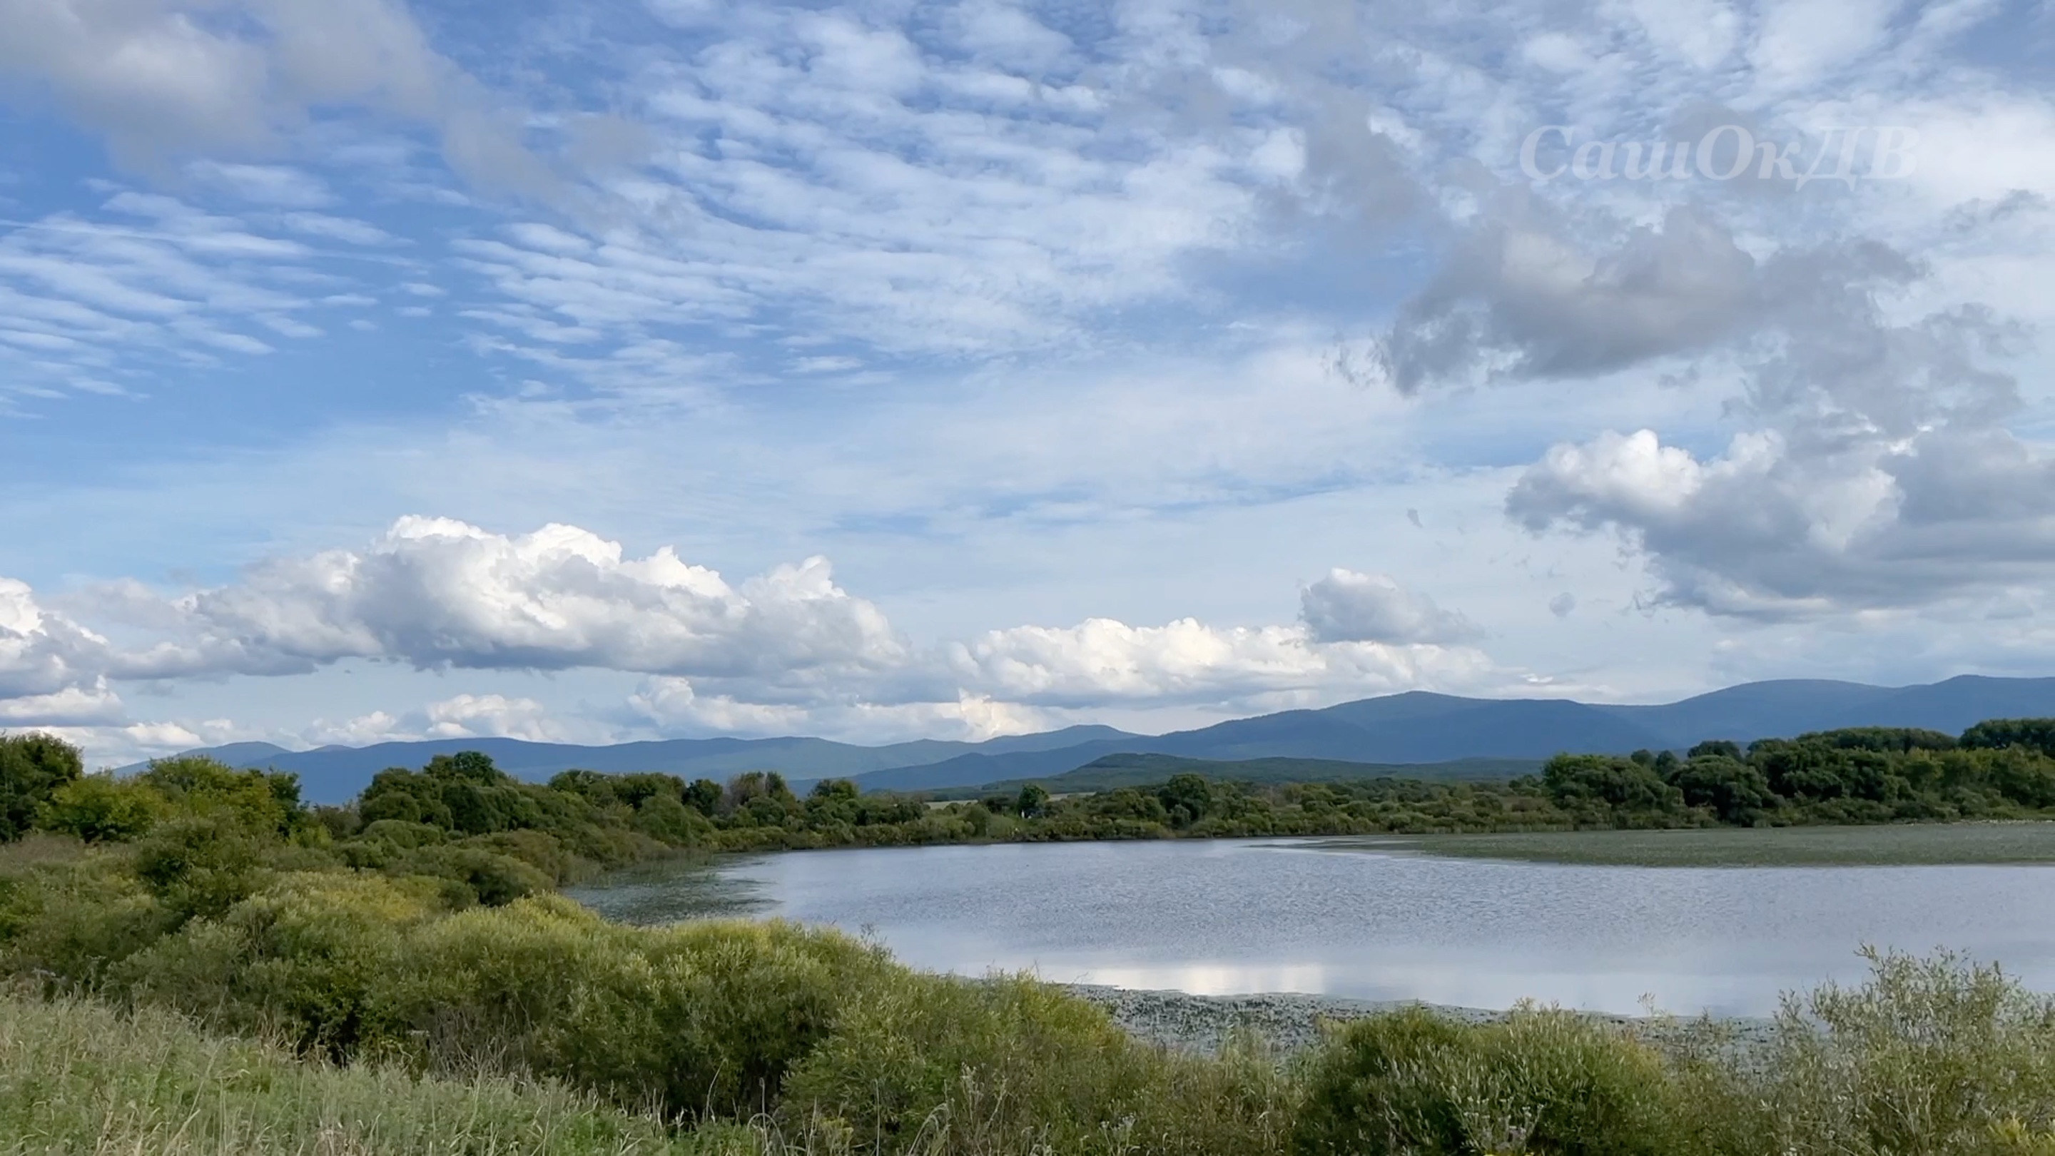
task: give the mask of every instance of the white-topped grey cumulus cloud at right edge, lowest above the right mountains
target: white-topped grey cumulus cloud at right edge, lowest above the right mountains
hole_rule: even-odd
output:
[[[1607,432],[1554,446],[1506,510],[1535,531],[1619,531],[1665,601],[1741,617],[2030,590],[2055,562],[2055,459],[2000,430],[1837,453],[1749,432],[1706,461]]]

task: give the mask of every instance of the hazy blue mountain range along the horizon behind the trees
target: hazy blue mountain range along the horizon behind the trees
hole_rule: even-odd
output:
[[[713,778],[781,771],[795,786],[853,778],[863,790],[943,790],[1058,775],[1106,755],[1186,759],[1328,759],[1344,763],[1451,763],[1547,759],[1562,751],[1681,751],[1704,738],[1747,743],[1837,726],[1926,726],[1960,732],[1985,718],[2055,716],[2055,679],[1965,675],[1915,687],[1784,679],[1743,683],[1662,706],[1572,699],[1471,699],[1408,691],[1323,710],[1286,710],[1169,734],[1071,726],[984,743],[914,740],[857,747],[826,738],[668,738],[573,747],[520,738],[436,738],[288,751],[234,743],[193,751],[236,767],[296,771],[312,802],[341,802],[384,767],[419,767],[429,755],[483,751],[524,780],[586,767]],[[123,767],[136,769],[136,767]]]

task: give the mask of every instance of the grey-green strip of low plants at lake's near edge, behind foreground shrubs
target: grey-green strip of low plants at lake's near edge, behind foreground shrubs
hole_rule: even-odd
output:
[[[1352,1000],[1344,996],[1307,996],[1299,991],[1268,991],[1249,996],[1194,996],[1190,991],[1112,987],[1104,983],[1054,983],[1064,991],[1104,1008],[1128,1035],[1173,1051],[1215,1053],[1237,1033],[1254,1033],[1280,1055],[1303,1051],[1321,1039],[1321,1024],[1340,1024],[1406,1008],[1426,1008],[1436,1014],[1484,1024],[1508,1012],[1461,1008],[1418,1000]],[[1665,1043],[1693,1031],[1704,1018],[1621,1016],[1611,1012],[1580,1012]],[[1776,1020],[1753,1016],[1712,1016],[1732,1031],[1739,1043],[1767,1043]]]

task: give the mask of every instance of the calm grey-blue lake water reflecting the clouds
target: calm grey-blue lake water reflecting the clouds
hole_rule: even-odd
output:
[[[1767,1014],[1862,944],[1956,948],[2055,989],[2055,868],[1621,868],[1278,841],[804,852],[577,895],[639,922],[746,903],[964,975],[1196,994]]]

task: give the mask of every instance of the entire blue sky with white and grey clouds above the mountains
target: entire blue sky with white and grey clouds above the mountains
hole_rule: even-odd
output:
[[[0,0],[0,726],[2055,675],[2055,6]]]

